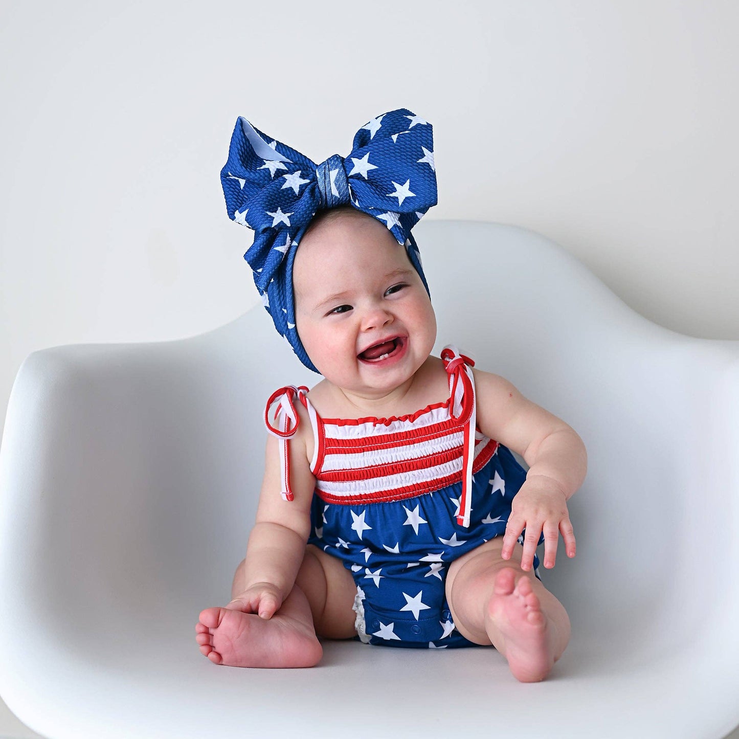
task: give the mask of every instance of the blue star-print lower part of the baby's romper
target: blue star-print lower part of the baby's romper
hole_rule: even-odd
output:
[[[389,503],[325,503],[314,493],[307,543],[338,557],[352,573],[355,640],[423,649],[481,646],[454,627],[446,572],[457,557],[505,533],[511,501],[525,479],[501,444],[474,474],[469,528],[456,519],[461,482]],[[541,579],[538,568],[534,555],[534,574]]]

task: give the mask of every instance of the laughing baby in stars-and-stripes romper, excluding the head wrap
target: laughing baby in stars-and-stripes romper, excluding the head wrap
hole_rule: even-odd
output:
[[[536,549],[554,567],[562,534],[575,556],[579,435],[453,345],[432,355],[425,278],[377,217],[319,209],[291,266],[295,330],[324,379],[268,401],[256,523],[231,602],[200,613],[200,651],[214,664],[313,667],[319,637],[492,644],[518,680],[543,680],[570,621]]]

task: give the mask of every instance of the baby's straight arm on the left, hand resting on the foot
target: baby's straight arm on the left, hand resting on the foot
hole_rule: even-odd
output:
[[[300,423],[288,442],[290,486],[295,497],[288,501],[280,495],[279,445],[270,434],[256,522],[246,552],[244,590],[228,604],[266,619],[279,610],[293,589],[310,535],[310,504],[316,478],[310,471],[305,437],[311,426],[302,403],[296,402],[295,406]]]

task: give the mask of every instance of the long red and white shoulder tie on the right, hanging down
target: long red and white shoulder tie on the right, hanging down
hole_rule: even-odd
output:
[[[477,427],[477,403],[474,398],[474,361],[460,354],[457,347],[448,344],[441,352],[446,372],[449,373],[449,416],[464,426],[462,459],[462,497],[457,523],[469,528],[471,508],[472,463],[474,462],[474,429]]]

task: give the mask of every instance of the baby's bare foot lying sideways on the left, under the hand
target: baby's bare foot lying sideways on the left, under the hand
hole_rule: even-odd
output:
[[[195,627],[200,651],[231,667],[313,667],[323,647],[311,624],[283,607],[271,619],[228,608],[206,608]],[[287,610],[288,613],[283,613]]]

